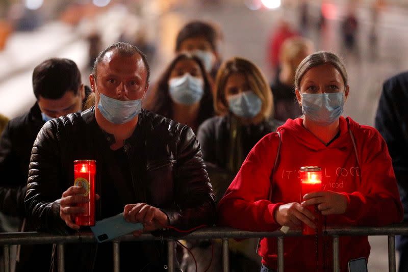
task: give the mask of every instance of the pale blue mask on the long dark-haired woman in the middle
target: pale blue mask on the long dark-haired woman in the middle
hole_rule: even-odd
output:
[[[177,103],[192,105],[202,98],[203,86],[204,80],[202,78],[185,73],[181,77],[173,77],[169,80],[170,97]]]

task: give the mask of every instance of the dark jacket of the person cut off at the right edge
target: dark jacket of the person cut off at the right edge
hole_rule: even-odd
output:
[[[375,128],[387,142],[408,222],[408,72],[385,81],[375,116]],[[408,244],[408,241],[406,241]]]

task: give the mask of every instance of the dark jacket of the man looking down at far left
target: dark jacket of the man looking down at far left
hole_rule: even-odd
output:
[[[85,86],[86,101],[91,89]],[[10,120],[0,140],[0,212],[5,214],[0,222],[0,231],[17,229],[33,231],[24,207],[31,150],[37,134],[44,125],[41,111],[35,103],[29,112]],[[23,223],[24,222],[24,223]],[[16,271],[27,271],[36,267],[39,271],[49,268],[52,246],[22,245],[17,251]]]

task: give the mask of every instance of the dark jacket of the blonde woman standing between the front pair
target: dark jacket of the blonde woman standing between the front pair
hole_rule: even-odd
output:
[[[234,179],[238,170],[230,167],[232,160],[241,166],[252,147],[266,134],[273,132],[282,124],[274,119],[265,120],[258,125],[239,126],[239,146],[234,146],[232,124],[236,120],[232,115],[217,116],[208,119],[198,128],[197,139],[201,145],[202,157],[214,186],[216,201],[220,200]],[[236,143],[235,143],[236,144]],[[237,151],[240,150],[240,156]],[[238,158],[240,157],[240,158]]]

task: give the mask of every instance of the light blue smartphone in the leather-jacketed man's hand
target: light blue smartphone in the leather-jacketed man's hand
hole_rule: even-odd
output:
[[[141,229],[143,229],[143,224],[129,223],[125,221],[123,212],[115,216],[97,221],[95,223],[95,226],[91,227],[93,235],[100,243]]]

